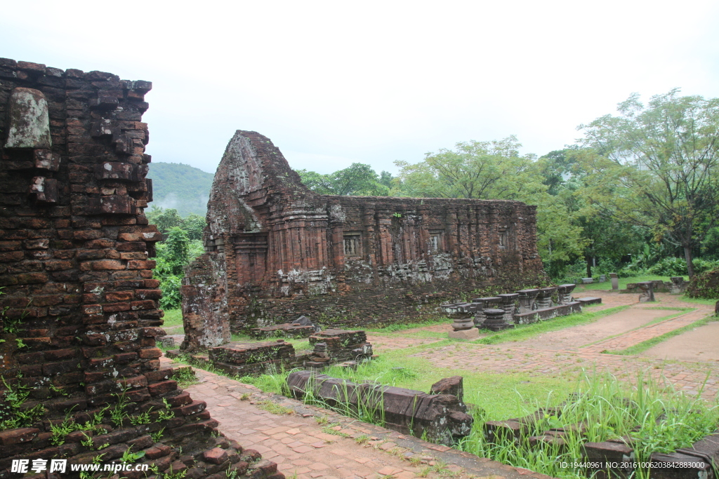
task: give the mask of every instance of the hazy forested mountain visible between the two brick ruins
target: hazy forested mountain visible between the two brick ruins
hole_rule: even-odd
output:
[[[180,216],[207,213],[212,179],[215,175],[182,163],[150,163],[148,178],[152,178],[150,208],[175,208]]]

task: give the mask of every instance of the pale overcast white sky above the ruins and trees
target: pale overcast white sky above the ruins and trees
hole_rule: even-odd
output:
[[[293,168],[396,172],[457,141],[523,153],[680,87],[719,96],[719,2],[14,1],[0,57],[150,80],[153,162],[214,172],[236,129]]]

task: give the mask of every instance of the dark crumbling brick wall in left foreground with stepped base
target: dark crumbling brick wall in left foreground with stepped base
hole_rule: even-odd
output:
[[[148,259],[160,233],[143,213],[151,86],[0,59],[0,478],[20,477],[14,459],[108,463],[126,451],[192,479],[284,477],[222,437],[160,367]]]

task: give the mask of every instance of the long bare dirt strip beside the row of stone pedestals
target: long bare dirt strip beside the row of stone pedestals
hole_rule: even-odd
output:
[[[610,336],[623,334],[636,327],[656,320],[662,316],[669,316],[678,311],[649,310],[644,306],[633,306],[628,310],[601,317],[588,325],[568,327],[564,330],[548,332],[532,338],[523,345],[537,349],[560,350],[567,348],[581,348],[595,341]]]

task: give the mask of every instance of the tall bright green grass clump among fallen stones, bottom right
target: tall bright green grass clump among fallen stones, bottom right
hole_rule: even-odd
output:
[[[672,452],[690,447],[693,442],[710,434],[719,424],[719,406],[697,397],[664,387],[651,377],[638,373],[631,386],[620,383],[610,375],[585,375],[572,384],[577,395],[559,406],[556,414],[533,424],[526,437],[538,435],[550,428],[583,424],[580,436],[569,432],[564,436],[566,451],[551,445],[530,446],[526,437],[516,441],[500,437],[489,442],[484,434],[487,415],[475,411],[472,433],[460,443],[460,448],[480,457],[489,457],[505,464],[527,468],[555,478],[582,478],[580,469],[562,468],[561,462],[577,462],[582,457],[582,443],[615,440],[631,436],[637,461],[649,460],[651,452]],[[557,404],[549,395],[546,401],[536,402],[526,409],[528,415],[537,409]],[[518,415],[519,416],[519,415]],[[646,479],[647,470],[637,470],[633,476]]]

